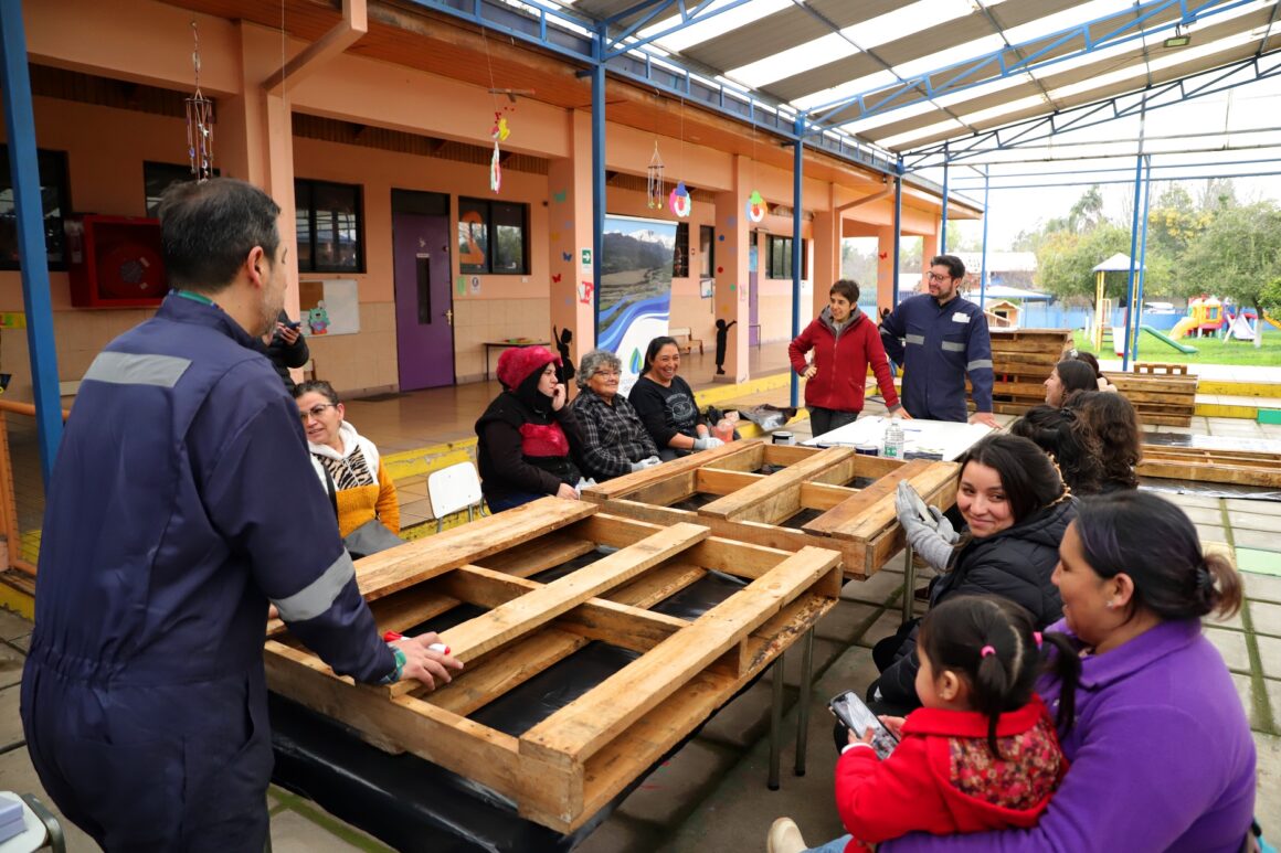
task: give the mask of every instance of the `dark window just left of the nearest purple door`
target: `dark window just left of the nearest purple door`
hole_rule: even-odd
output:
[[[363,273],[360,186],[327,181],[293,182],[300,273]]]

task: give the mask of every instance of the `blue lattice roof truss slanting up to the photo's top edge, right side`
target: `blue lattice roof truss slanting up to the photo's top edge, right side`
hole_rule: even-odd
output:
[[[808,113],[815,123],[835,124],[839,127],[840,124],[866,119],[883,113],[890,113],[921,101],[933,100],[942,95],[974,88],[976,86],[981,86],[983,83],[988,83],[994,79],[1003,79],[1012,74],[1022,74],[1032,69],[1047,68],[1068,59],[1091,54],[1095,50],[1113,47],[1136,38],[1143,38],[1145,35],[1163,32],[1173,28],[1175,26],[1186,26],[1196,20],[1204,20],[1230,9],[1257,1],[1258,0],[1230,0],[1228,3],[1223,3],[1222,0],[1203,0],[1193,6],[1189,0],[1149,0],[1149,3],[1136,4],[1132,10],[1125,10],[1123,13],[1114,13],[1104,18],[1097,18],[1068,29],[1061,29],[1056,33],[1041,36],[1040,38],[1020,42],[1012,47],[1002,47],[1000,50],[983,56],[976,56],[962,63],[956,63],[933,72],[910,77],[901,83],[881,86],[879,88],[843,97],[829,104],[821,104],[810,109]],[[1144,31],[1144,23],[1170,9],[1179,10],[1179,18],[1176,20],[1170,20]],[[1109,24],[1111,22],[1114,22],[1120,14],[1129,14],[1130,12],[1135,15],[1132,20],[1112,27],[1103,35],[1093,35],[1091,28]],[[1084,47],[1068,50],[1067,53],[1047,58],[1047,55],[1052,51],[1077,40],[1084,44]],[[1011,53],[1017,56],[1024,51],[1026,51],[1026,55],[1017,58],[1015,61],[1009,61],[1008,55]],[[994,74],[980,78],[981,73],[989,72],[994,72]],[[844,115],[852,109],[857,109],[857,113]],[[830,119],[836,115],[840,117],[839,120],[831,122]]]

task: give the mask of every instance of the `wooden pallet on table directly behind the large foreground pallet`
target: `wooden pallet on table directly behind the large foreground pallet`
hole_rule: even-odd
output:
[[[783,467],[761,473],[767,466]],[[865,579],[904,546],[894,511],[899,480],[947,508],[956,502],[957,475],[956,462],[902,462],[862,456],[849,447],[752,439],[608,480],[585,489],[583,498],[615,515],[664,525],[705,524],[716,535],[783,551],[834,548],[845,576]],[[874,482],[852,488],[860,478]],[[673,506],[706,497],[712,500],[697,508]],[[806,510],[817,511],[817,517],[799,528],[783,526]]]

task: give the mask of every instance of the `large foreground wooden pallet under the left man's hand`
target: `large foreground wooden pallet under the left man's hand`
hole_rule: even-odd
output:
[[[619,551],[548,583],[528,579],[601,544]],[[357,564],[379,630],[409,630],[460,603],[485,608],[441,631],[466,663],[451,684],[434,693],[416,681],[357,685],[279,625],[266,640],[268,683],[383,749],[447,767],[512,799],[523,817],[570,833],[835,606],[839,560],[543,498]],[[748,583],[698,619],[648,610],[708,570]],[[639,657],[519,736],[469,719],[593,640]]]

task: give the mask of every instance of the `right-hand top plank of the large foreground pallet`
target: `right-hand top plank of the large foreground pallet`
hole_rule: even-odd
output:
[[[679,634],[547,717],[520,739],[521,753],[582,762],[679,690],[697,672],[836,566],[833,552],[804,548],[699,616]]]

